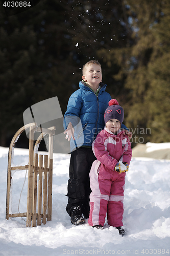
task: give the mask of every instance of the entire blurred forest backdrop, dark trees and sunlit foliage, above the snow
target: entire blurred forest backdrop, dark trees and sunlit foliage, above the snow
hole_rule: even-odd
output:
[[[32,104],[58,96],[64,114],[90,59],[124,107],[132,145],[169,142],[169,49],[165,0],[41,0],[9,17],[1,5],[0,145],[9,146]]]

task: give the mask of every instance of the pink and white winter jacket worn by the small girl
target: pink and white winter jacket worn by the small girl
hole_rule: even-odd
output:
[[[105,126],[96,139],[92,143],[92,150],[95,157],[101,162],[100,174],[102,169],[106,175],[114,170],[119,160],[130,164],[132,158],[131,143],[128,135],[124,135],[124,131],[118,130],[117,134],[113,134]],[[105,177],[107,179],[107,177]]]

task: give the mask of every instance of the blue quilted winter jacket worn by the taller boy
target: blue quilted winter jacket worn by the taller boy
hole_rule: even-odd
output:
[[[96,96],[85,82],[80,81],[80,89],[68,100],[64,126],[66,129],[71,122],[75,128],[75,141],[72,138],[70,141],[71,151],[75,147],[91,146],[96,135],[104,129],[104,112],[111,96],[105,92],[107,84],[100,83],[100,86],[100,92]]]

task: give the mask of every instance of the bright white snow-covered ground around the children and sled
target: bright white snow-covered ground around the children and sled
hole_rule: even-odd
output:
[[[14,164],[28,164],[28,150],[15,148],[14,155]],[[124,199],[123,222],[127,236],[120,237],[107,221],[104,230],[93,229],[87,220],[79,226],[70,223],[65,210],[69,158],[69,154],[54,154],[52,221],[26,227],[21,218],[5,220],[8,148],[0,147],[0,256],[170,253],[170,160],[132,159]],[[25,175],[25,170],[13,174],[13,213],[18,212]],[[27,211],[27,179],[19,211]]]

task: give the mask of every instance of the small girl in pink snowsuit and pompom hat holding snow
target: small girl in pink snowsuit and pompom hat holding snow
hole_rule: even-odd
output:
[[[115,99],[105,111],[105,128],[92,143],[97,158],[90,170],[90,226],[102,228],[107,220],[110,226],[124,235],[123,199],[125,176],[132,157],[129,137],[120,130],[124,110]]]

